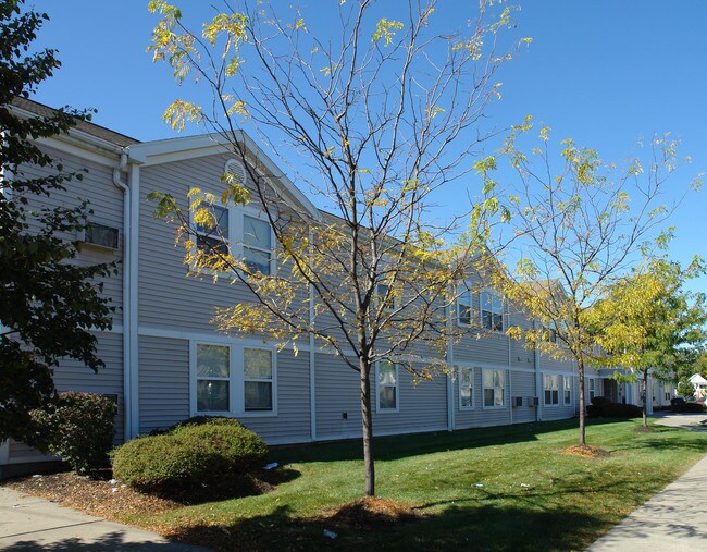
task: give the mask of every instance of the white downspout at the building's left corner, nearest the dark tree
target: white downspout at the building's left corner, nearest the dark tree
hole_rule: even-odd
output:
[[[131,397],[133,381],[131,378],[131,345],[133,329],[131,328],[131,188],[121,179],[121,173],[127,167],[127,152],[121,151],[121,160],[113,169],[113,185],[123,192],[123,439],[133,438],[131,427]]]

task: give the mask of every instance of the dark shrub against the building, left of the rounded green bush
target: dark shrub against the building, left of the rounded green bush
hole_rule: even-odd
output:
[[[46,409],[33,410],[36,440],[32,443],[69,463],[78,474],[108,466],[117,406],[95,393],[60,393]]]

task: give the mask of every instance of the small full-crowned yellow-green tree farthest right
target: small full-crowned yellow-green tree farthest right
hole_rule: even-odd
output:
[[[697,347],[707,339],[705,295],[683,289],[705,272],[695,258],[683,269],[665,258],[654,259],[608,290],[595,308],[597,344],[606,353],[603,366],[628,368],[624,381],[643,382],[643,425],[648,427],[648,373],[662,381],[677,381],[685,367],[694,366]]]

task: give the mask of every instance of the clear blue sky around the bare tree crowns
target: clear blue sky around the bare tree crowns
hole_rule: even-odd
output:
[[[330,0],[309,4],[318,1]],[[518,36],[534,41],[503,71],[503,99],[489,110],[488,124],[505,127],[532,114],[558,139],[572,137],[616,162],[634,154],[638,139],[671,132],[682,143],[681,156],[692,157],[672,176],[665,200],[681,197],[692,177],[707,170],[707,2],[511,3],[521,5],[514,15]],[[206,14],[210,3],[181,4]],[[154,65],[145,51],[157,21],[146,0],[36,0],[34,5],[50,16],[37,45],[58,49],[63,63],[42,84],[37,101],[95,107],[96,123],[141,140],[175,135],[161,115],[179,89],[169,68]],[[677,226],[670,255],[682,262],[707,257],[706,194],[689,195],[669,221]],[[454,198],[448,200],[451,206]],[[707,292],[707,278],[691,287]]]

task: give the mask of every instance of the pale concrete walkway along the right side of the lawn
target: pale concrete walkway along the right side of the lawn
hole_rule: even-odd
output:
[[[707,431],[707,416],[658,414],[656,424]],[[707,436],[705,436],[707,439]],[[590,552],[694,552],[707,549],[707,456],[597,540]]]

